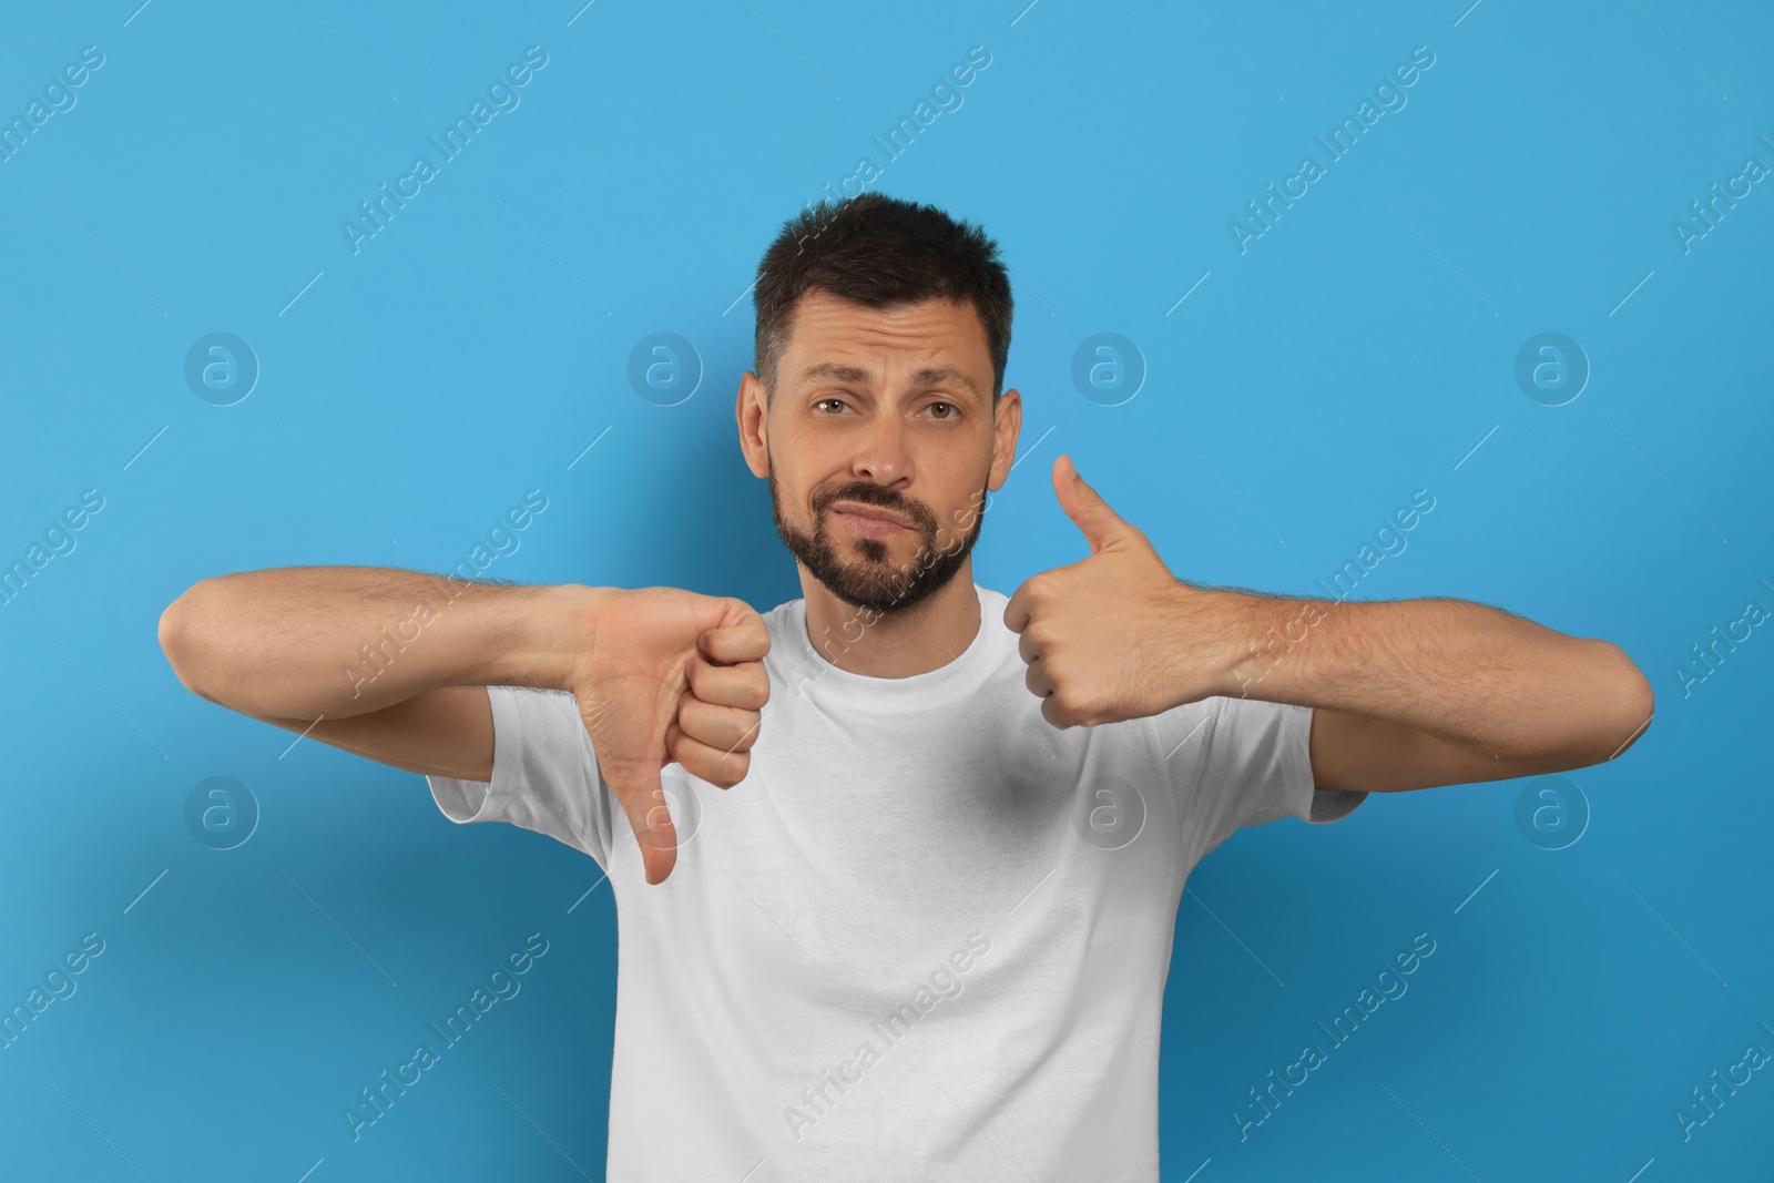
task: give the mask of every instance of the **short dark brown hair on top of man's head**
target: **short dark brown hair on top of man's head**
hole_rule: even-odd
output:
[[[775,397],[777,362],[795,305],[818,287],[869,309],[931,298],[972,303],[992,355],[992,406],[1004,392],[1009,358],[1009,275],[985,229],[935,206],[864,192],[807,206],[782,223],[757,264],[754,349],[765,396]]]

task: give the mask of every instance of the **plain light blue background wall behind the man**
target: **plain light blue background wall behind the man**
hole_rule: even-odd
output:
[[[1774,607],[1774,190],[1687,254],[1671,220],[1747,156],[1774,165],[1774,20],[1024,4],[9,16],[5,119],[82,46],[105,66],[0,163],[0,555],[83,490],[105,509],[0,607],[0,1000],[83,933],[105,952],[0,1050],[0,1176],[601,1178],[616,933],[608,887],[585,896],[596,867],[197,699],[154,624],[222,571],[447,569],[530,488],[550,507],[490,575],[798,596],[731,435],[743,296],[782,220],[862,154],[885,163],[875,188],[983,222],[1015,271],[1029,463],[993,498],[981,584],[1086,553],[1050,486],[1061,452],[1178,575],[1293,594],[1323,594],[1425,488],[1433,513],[1359,598],[1607,637],[1657,690],[1627,756],[1570,773],[1591,818],[1565,850],[1517,827],[1522,782],[1494,782],[1375,795],[1205,862],[1166,1007],[1166,1178],[1765,1169],[1774,1073],[1689,1140],[1673,1114],[1747,1045],[1774,1052],[1774,639],[1687,697],[1675,665],[1747,599]],[[532,44],[548,66],[522,105],[353,254],[341,220]],[[976,44],[992,64],[963,105],[887,163],[871,135]],[[1323,163],[1313,137],[1419,44],[1435,64],[1409,105],[1240,254],[1228,220],[1302,154]],[[211,332],[263,367],[234,406],[183,378]],[[626,378],[655,332],[704,367],[676,406]],[[1070,378],[1098,332],[1150,369],[1121,406]],[[1593,367],[1565,406],[1513,378],[1542,332]],[[236,850],[184,825],[213,775],[263,811]],[[522,995],[353,1142],[342,1107],[538,931]],[[1409,993],[1240,1142],[1247,1089],[1417,933],[1437,951]]]

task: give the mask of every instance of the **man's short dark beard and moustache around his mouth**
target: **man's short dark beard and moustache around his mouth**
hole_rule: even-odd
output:
[[[878,505],[898,513],[912,521],[912,532],[919,536],[910,562],[894,562],[889,539],[855,537],[836,539],[827,527],[825,513],[832,502],[852,500],[862,505]],[[775,516],[777,534],[795,559],[807,568],[812,578],[820,580],[825,591],[844,603],[878,617],[905,612],[947,585],[954,573],[967,562],[979,532],[985,529],[986,490],[979,490],[974,498],[974,521],[960,544],[954,534],[949,536],[947,550],[938,546],[938,520],[922,502],[907,500],[896,493],[882,490],[878,484],[859,481],[837,486],[812,498],[812,534],[789,523],[782,516],[782,498],[777,491],[775,465],[770,468],[770,513]],[[852,552],[855,557],[850,557]]]

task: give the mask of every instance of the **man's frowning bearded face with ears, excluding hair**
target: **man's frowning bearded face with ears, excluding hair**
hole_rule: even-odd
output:
[[[965,564],[1017,424],[1015,390],[993,420],[972,305],[875,310],[809,291],[763,424],[777,532],[837,599],[903,612]]]

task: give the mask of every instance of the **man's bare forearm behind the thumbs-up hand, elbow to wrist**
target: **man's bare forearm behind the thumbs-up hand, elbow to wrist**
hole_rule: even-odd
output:
[[[1650,720],[1650,685],[1618,646],[1485,605],[1249,594],[1233,605],[1231,697],[1378,718],[1531,763],[1609,759]]]

